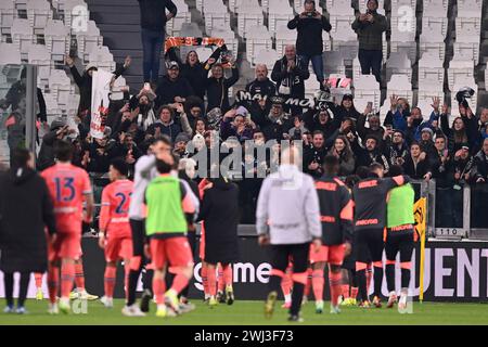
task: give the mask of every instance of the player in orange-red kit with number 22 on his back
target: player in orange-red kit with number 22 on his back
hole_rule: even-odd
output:
[[[132,257],[132,235],[129,224],[129,204],[133,183],[127,179],[129,167],[123,158],[112,160],[108,176],[112,181],[103,189],[102,209],[99,220],[99,245],[105,252],[105,295],[100,301],[107,308],[114,307],[114,288],[117,261],[124,260],[125,287]],[[127,297],[127,292],[126,292]]]

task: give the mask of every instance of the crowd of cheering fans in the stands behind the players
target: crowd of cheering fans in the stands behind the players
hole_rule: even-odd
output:
[[[375,56],[381,50],[384,17],[375,12],[376,8],[376,1],[369,1],[368,13],[359,15],[354,27],[359,36],[363,73],[372,72],[378,78]],[[380,163],[386,172],[391,165],[401,165],[413,179],[436,179],[440,189],[488,182],[488,108],[475,115],[460,104],[461,116],[452,119],[448,105],[439,99],[433,100],[432,110],[421,110],[393,95],[390,111],[382,125],[371,103],[365,110],[357,110],[352,94],[341,100],[329,98],[322,52],[316,46],[321,44],[321,31],[330,30],[330,24],[314,10],[313,1],[306,1],[304,13],[293,18],[288,28],[298,30],[297,44],[285,48],[271,74],[266,65],[256,66],[256,79],[245,87],[252,95],[260,95],[253,101],[232,103],[229,99],[229,88],[240,75],[224,46],[206,62],[201,62],[195,51],[180,60],[171,48],[166,54],[167,74],[157,82],[146,78],[151,64],[144,60],[146,82],[132,97],[125,91],[123,100],[111,101],[103,119],[102,139],[90,134],[91,72],[97,68],[87,66],[80,75],[74,60],[67,57],[66,64],[81,93],[77,128],[68,127],[63,119],[51,124],[42,138],[38,169],[54,163],[53,146],[57,140],[72,139],[76,146],[75,164],[89,172],[107,172],[115,157],[124,157],[133,171],[150,141],[167,136],[180,157],[209,151],[218,141],[227,141],[228,146],[235,149],[244,146],[246,140],[254,140],[257,145],[270,140],[301,140],[303,169],[316,178],[323,174],[325,155],[332,154],[339,158],[339,174],[344,177],[354,175],[360,166]],[[320,82],[316,106],[290,106],[285,103],[287,99],[305,98],[304,80],[310,77],[310,61]],[[114,78],[129,65],[130,57],[114,72]],[[189,151],[190,146],[196,151]],[[253,162],[253,172],[261,169],[269,172],[279,155],[272,149],[265,162],[243,154],[244,163]],[[244,165],[241,176],[248,170]],[[236,179],[241,185],[243,221],[253,222],[262,178]]]

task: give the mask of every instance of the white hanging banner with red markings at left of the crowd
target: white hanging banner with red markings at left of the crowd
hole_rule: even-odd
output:
[[[103,139],[105,130],[105,117],[108,110],[108,93],[113,74],[103,69],[93,72],[91,82],[91,123],[90,136],[94,139]]]

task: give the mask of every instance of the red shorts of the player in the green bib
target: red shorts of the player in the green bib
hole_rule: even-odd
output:
[[[171,267],[193,265],[192,249],[187,236],[151,239],[151,259],[155,269],[162,269],[168,262]]]

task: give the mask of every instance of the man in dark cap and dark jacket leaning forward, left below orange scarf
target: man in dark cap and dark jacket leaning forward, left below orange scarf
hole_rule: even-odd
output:
[[[187,78],[180,76],[180,66],[177,62],[168,63],[168,74],[163,76],[156,88],[155,107],[172,103],[182,103],[185,98],[193,94],[193,89]]]

